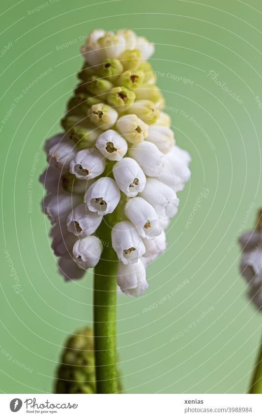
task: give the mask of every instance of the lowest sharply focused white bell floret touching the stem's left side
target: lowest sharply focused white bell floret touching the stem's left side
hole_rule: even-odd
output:
[[[73,247],[73,256],[80,268],[87,269],[96,266],[103,251],[100,239],[90,235],[79,239]]]

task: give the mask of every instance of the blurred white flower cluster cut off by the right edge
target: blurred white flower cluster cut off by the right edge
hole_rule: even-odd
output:
[[[262,233],[260,229],[247,232],[239,238],[242,248],[240,272],[249,287],[248,295],[262,310]]]

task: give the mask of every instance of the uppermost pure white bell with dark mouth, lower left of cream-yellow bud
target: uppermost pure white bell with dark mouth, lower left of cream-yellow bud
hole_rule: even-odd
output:
[[[127,152],[126,140],[116,130],[108,129],[98,136],[96,148],[111,161],[120,161]]]

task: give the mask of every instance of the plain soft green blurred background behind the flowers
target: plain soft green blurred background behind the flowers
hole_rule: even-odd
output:
[[[4,3],[1,45],[9,47],[0,57],[2,392],[52,392],[68,333],[92,321],[92,272],[72,283],[58,275],[38,177],[46,165],[43,141],[60,130],[77,83],[84,36],[101,27],[131,28],[156,44],[151,64],[158,86],[177,144],[192,156],[191,181],[179,193],[179,212],[168,228],[168,250],[147,268],[149,289],[139,298],[118,298],[125,391],[246,391],[262,317],[246,297],[234,239],[253,226],[262,205],[262,110],[256,99],[262,100],[261,18],[259,0]],[[212,79],[210,71],[218,75]],[[19,279],[10,276],[4,251]]]

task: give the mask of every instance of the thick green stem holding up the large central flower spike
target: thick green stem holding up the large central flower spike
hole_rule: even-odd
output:
[[[106,218],[106,217],[105,217]],[[94,349],[97,393],[117,393],[116,373],[116,270],[111,229],[104,220],[98,236],[104,250],[94,269]],[[102,239],[103,237],[103,239]]]

